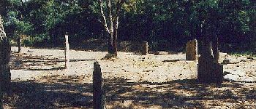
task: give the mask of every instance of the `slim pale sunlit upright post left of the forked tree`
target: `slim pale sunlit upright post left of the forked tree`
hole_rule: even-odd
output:
[[[69,36],[65,35],[65,68],[69,69]]]

